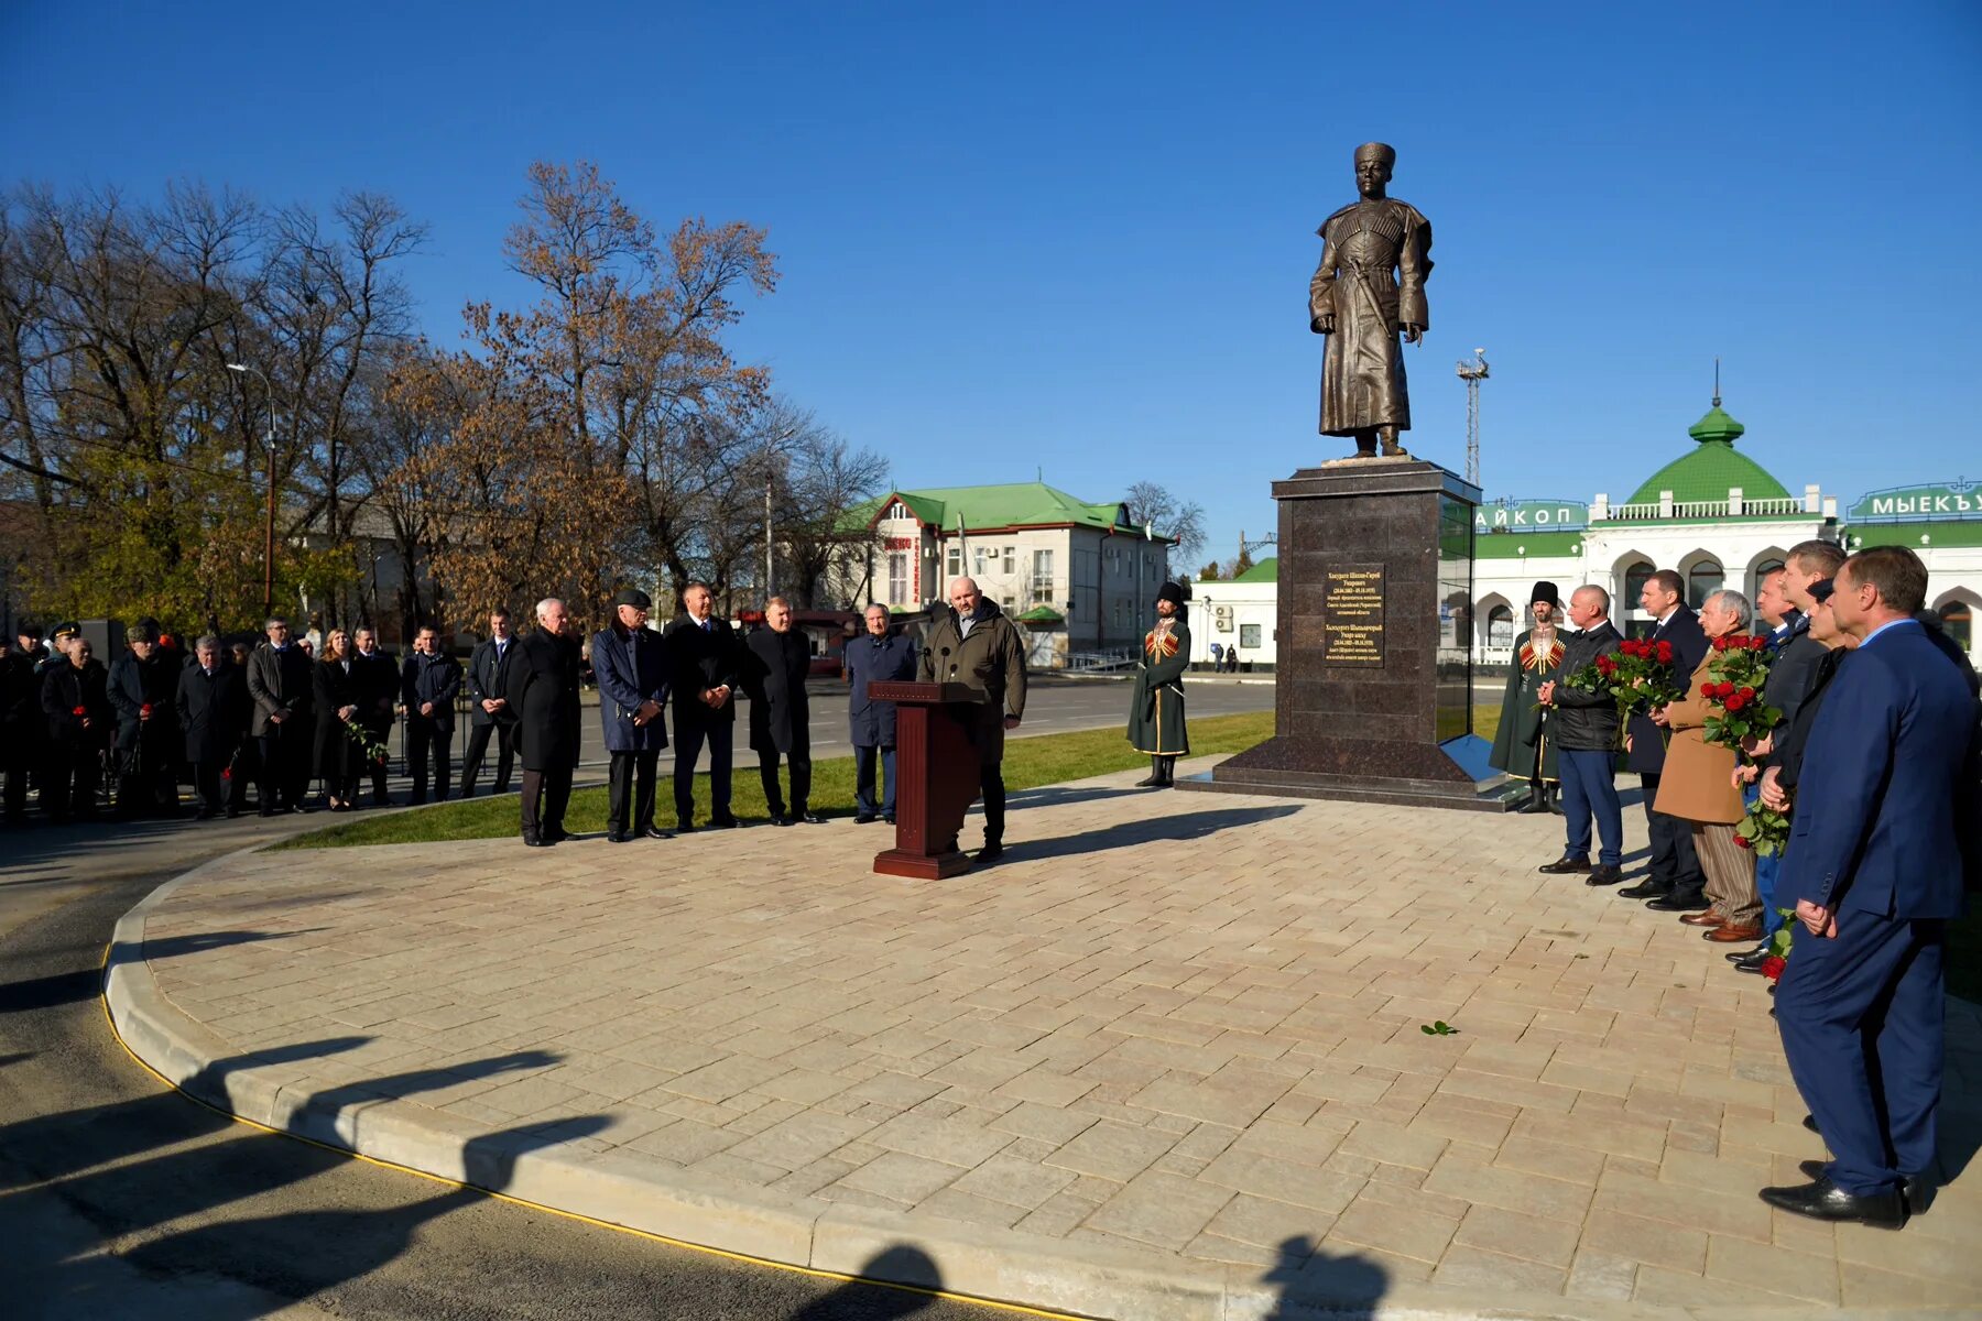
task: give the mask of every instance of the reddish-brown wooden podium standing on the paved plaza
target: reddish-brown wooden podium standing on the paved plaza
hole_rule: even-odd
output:
[[[874,869],[922,881],[967,871],[957,832],[977,800],[983,697],[963,683],[870,683],[868,697],[894,703],[894,848],[874,854]]]

